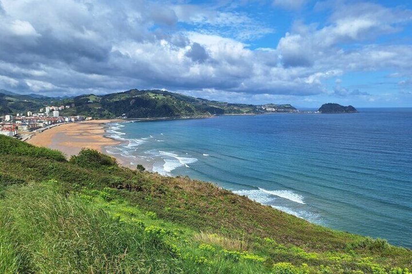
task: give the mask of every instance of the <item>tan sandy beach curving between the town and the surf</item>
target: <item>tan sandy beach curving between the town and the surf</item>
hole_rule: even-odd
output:
[[[122,120],[91,120],[63,124],[37,133],[27,143],[60,150],[68,158],[78,154],[83,147],[107,154],[105,147],[119,145],[121,142],[105,137],[104,127],[107,123],[120,121]],[[110,156],[113,157],[113,155]],[[116,160],[123,166],[134,167],[130,161],[118,155],[116,155]]]

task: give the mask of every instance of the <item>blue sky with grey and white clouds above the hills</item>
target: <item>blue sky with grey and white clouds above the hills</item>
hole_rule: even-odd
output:
[[[0,89],[412,107],[410,0],[0,0]]]

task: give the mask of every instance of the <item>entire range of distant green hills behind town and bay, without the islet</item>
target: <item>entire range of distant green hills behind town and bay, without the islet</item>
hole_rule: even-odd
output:
[[[69,105],[69,109],[61,111],[60,114],[63,116],[84,115],[94,118],[155,118],[297,111],[290,104],[233,104],[164,90],[132,89],[101,96],[88,94],[69,98],[17,95],[9,92],[0,94],[0,115],[35,111],[51,104]]]

